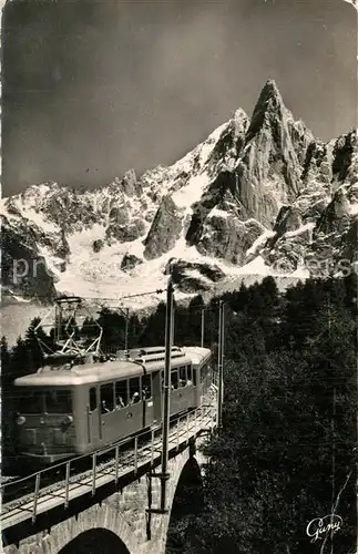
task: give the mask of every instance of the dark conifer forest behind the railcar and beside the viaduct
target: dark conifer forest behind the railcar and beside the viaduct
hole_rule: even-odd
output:
[[[223,428],[206,447],[204,507],[178,519],[167,552],[304,554],[356,552],[357,279],[307,280],[280,294],[275,280],[226,293]],[[175,345],[217,351],[218,302],[175,306]],[[103,308],[103,349],[124,345],[124,317]],[[132,315],[129,346],[164,343],[165,305]],[[12,381],[42,353],[32,321],[10,350],[1,340],[3,466],[17,456]],[[76,332],[91,338],[91,321]],[[51,337],[43,334],[43,340]],[[310,542],[310,520],[342,526]],[[323,550],[324,548],[324,550]]]

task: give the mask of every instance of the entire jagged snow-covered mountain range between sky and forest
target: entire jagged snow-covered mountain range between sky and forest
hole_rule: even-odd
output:
[[[171,259],[183,294],[250,269],[341,275],[357,261],[357,132],[316,140],[268,81],[250,119],[237,110],[170,167],[91,191],[34,185],[1,212],[16,296],[117,297],[165,285]],[[19,258],[45,269],[14,283]]]

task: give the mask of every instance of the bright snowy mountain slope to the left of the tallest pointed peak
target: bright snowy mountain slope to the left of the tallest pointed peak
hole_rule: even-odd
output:
[[[149,276],[164,286],[168,257],[187,250],[183,237],[191,205],[212,176],[238,156],[246,129],[247,116],[238,110],[173,166],[158,166],[139,179],[131,171],[95,191],[34,185],[2,201],[3,228],[37,236],[38,254],[59,291],[117,296],[147,290]],[[160,257],[170,250],[171,256]],[[197,252],[190,250],[187,257],[196,259]],[[12,283],[11,290],[21,295],[21,284]]]

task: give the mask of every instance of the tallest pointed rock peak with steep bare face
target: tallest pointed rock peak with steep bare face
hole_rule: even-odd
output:
[[[264,86],[229,171],[223,168],[195,205],[186,236],[198,252],[242,265],[300,187],[313,136],[295,122],[273,81]]]

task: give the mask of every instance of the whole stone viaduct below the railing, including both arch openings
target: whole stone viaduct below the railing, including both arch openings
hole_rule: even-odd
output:
[[[94,495],[74,499],[67,507],[31,516],[2,533],[4,554],[165,554],[175,510],[195,513],[203,504],[202,474],[206,460],[200,447],[207,434],[195,433],[170,450],[166,513],[160,507],[160,458],[139,466],[132,478],[99,488]],[[176,507],[175,507],[176,506]],[[149,512],[146,509],[154,509]]]

